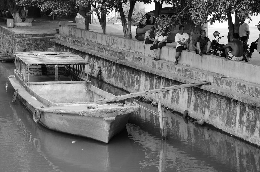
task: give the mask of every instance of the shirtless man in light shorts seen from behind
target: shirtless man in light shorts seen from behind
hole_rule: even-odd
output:
[[[243,59],[243,42],[238,40],[239,34],[233,34],[233,41],[224,45],[226,58],[224,60],[239,61]]]

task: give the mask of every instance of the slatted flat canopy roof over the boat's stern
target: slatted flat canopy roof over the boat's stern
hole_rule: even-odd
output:
[[[15,56],[27,65],[88,64],[81,56],[70,52],[32,51],[18,52]]]

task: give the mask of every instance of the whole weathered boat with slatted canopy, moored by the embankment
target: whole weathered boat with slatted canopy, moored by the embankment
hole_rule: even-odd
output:
[[[9,76],[15,94],[36,123],[50,130],[108,143],[125,128],[136,105],[97,104],[115,97],[90,84],[88,62],[68,52],[15,54],[15,75]]]

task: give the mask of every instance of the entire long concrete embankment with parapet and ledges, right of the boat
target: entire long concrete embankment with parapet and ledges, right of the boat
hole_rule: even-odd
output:
[[[162,60],[153,61],[150,45],[141,41],[67,26],[60,27],[60,34],[56,34],[53,41],[56,51],[79,54],[89,61],[89,66],[94,65],[93,76],[129,92],[198,80],[211,81],[209,86],[166,91],[148,97],[156,100],[160,96],[163,105],[181,113],[189,110],[189,116],[203,118],[208,124],[260,146],[260,85],[259,78],[254,80],[252,77],[260,70],[259,66],[224,61],[215,56],[200,57],[194,52],[183,52],[180,64],[173,65],[176,52],[171,47],[163,47]],[[239,71],[242,76],[236,74],[236,68],[243,70]]]

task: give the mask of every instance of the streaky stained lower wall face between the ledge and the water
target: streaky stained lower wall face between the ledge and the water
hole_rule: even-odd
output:
[[[89,66],[94,63],[94,71],[98,70],[98,64],[108,66],[102,70],[103,81],[115,85],[129,92],[152,90],[160,87],[169,87],[181,84],[165,77],[158,77],[132,67],[99,58],[94,55],[84,54],[81,51],[65,46],[55,45],[56,51],[67,51],[81,54],[89,61]],[[109,65],[110,64],[110,65]],[[88,69],[90,72],[90,69]],[[98,77],[99,71],[92,73]],[[180,113],[189,110],[189,116],[195,119],[204,119],[220,130],[228,132],[246,141],[260,146],[260,116],[259,108],[218,95],[200,88],[184,88],[179,90],[165,91],[148,95],[156,100],[162,97],[162,104]]]

